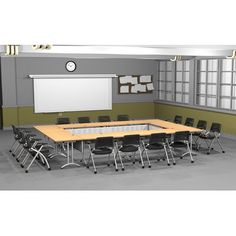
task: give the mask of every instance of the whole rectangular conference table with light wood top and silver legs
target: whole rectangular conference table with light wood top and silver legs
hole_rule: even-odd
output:
[[[112,136],[120,139],[125,135],[139,134],[141,137],[150,136],[153,133],[166,133],[169,135],[178,131],[190,132],[190,146],[192,149],[192,134],[199,133],[202,130],[181,124],[175,124],[160,119],[148,120],[129,120],[129,121],[111,121],[111,122],[94,122],[94,123],[76,123],[64,125],[38,125],[34,126],[36,130],[45,137],[53,141],[56,145],[64,143],[66,145],[67,163],[61,168],[74,165],[80,166],[74,162],[74,143],[84,158],[84,145],[87,141],[96,140],[99,137]]]

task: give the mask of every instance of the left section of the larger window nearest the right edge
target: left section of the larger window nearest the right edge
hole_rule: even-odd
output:
[[[218,60],[198,60],[196,104],[217,107]]]

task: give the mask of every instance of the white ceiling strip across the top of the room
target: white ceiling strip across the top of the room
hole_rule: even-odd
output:
[[[190,59],[231,56],[235,49],[236,45],[53,45],[48,50],[35,50],[32,45],[20,45],[19,56],[170,59],[181,55]],[[0,45],[1,56],[4,51]]]

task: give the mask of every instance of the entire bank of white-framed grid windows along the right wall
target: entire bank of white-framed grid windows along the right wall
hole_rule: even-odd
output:
[[[195,62],[190,75],[190,61],[160,61],[158,99],[236,112],[236,59]]]

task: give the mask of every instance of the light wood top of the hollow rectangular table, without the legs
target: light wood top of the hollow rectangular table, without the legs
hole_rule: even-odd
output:
[[[160,129],[104,132],[104,133],[94,133],[94,134],[72,134],[69,130],[67,130],[76,128],[141,125],[141,124],[158,126],[160,127]],[[149,136],[153,133],[173,134],[177,131],[189,131],[191,133],[201,132],[201,129],[175,124],[169,121],[164,121],[159,119],[94,122],[94,123],[83,123],[83,124],[77,123],[77,124],[66,124],[66,125],[38,125],[34,126],[34,128],[37,129],[42,134],[44,134],[45,136],[47,136],[48,138],[50,138],[51,140],[53,140],[54,142],[86,141],[86,140],[95,140],[98,137],[108,137],[108,136],[112,136],[114,138],[122,138],[124,135],[130,135],[130,134]]]

